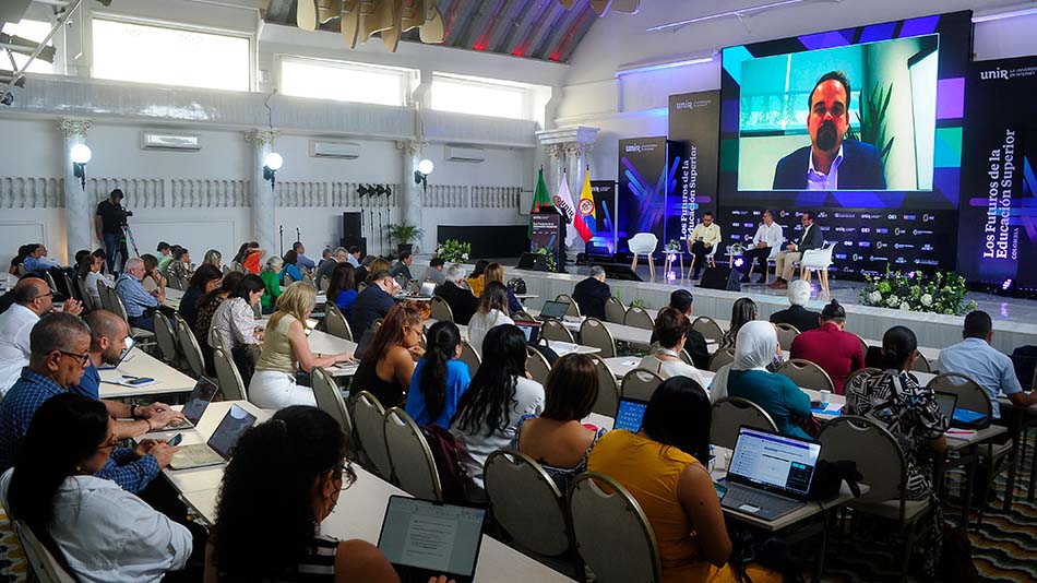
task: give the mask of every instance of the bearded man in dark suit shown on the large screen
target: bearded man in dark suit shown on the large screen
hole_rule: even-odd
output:
[[[849,80],[830,71],[808,99],[810,145],[785,156],[774,169],[774,190],[885,190],[879,151],[844,140],[849,131]]]

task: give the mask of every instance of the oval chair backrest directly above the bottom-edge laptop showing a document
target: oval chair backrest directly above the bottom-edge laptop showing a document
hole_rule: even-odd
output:
[[[400,487],[416,498],[442,501],[432,450],[414,419],[402,408],[393,407],[385,412],[384,431],[385,450]]]

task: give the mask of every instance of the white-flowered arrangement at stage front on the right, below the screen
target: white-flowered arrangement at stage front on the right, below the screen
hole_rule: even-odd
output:
[[[959,316],[976,309],[975,301],[965,302],[965,277],[938,271],[931,276],[920,271],[865,274],[860,290],[861,304],[894,310]]]

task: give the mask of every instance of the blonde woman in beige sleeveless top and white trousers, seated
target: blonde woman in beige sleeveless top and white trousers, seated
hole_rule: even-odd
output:
[[[277,298],[266,324],[263,352],[249,383],[249,401],[255,406],[279,409],[289,405],[317,405],[313,390],[296,383],[296,371],[353,361],[349,353],[313,354],[306,338],[306,321],[313,311],[317,289],[296,282]]]

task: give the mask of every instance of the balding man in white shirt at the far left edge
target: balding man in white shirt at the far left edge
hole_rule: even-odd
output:
[[[39,318],[53,309],[53,291],[38,277],[25,277],[14,286],[14,305],[0,313],[0,395],[19,379],[28,365],[29,332]],[[70,299],[64,311],[79,316],[83,306]]]

